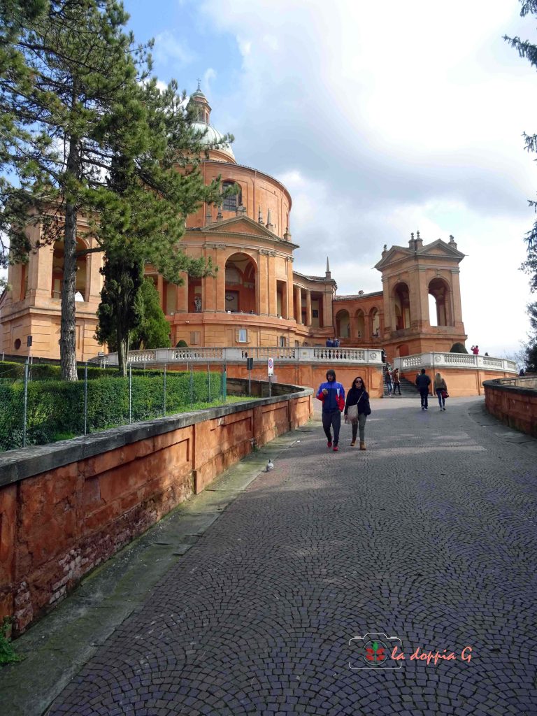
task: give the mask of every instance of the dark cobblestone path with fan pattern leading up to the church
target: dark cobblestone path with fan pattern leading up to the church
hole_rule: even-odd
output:
[[[537,441],[481,405],[304,426],[49,715],[536,714]]]

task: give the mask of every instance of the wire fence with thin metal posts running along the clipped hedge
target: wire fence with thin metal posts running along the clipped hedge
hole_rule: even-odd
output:
[[[77,382],[56,366],[0,363],[0,452],[46,445],[132,422],[200,410],[227,400],[226,367],[186,370],[79,368]]]

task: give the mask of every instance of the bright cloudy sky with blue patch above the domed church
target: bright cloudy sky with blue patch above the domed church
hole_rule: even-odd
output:
[[[518,0],[126,0],[154,72],[236,137],[239,163],[293,197],[295,266],[338,294],[376,291],[387,243],[455,236],[468,343],[513,354],[526,338],[518,270],[537,171],[537,75],[503,40],[537,42]]]

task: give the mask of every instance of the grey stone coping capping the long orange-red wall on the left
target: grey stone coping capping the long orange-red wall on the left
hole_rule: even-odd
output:
[[[241,379],[241,382],[248,382]],[[172,430],[179,430],[182,427],[195,425],[206,420],[213,420],[216,417],[233,415],[243,410],[252,410],[253,407],[273,405],[274,403],[313,395],[311,388],[286,385],[278,385],[279,389],[289,388],[285,395],[273,395],[265,398],[254,398],[231,403],[231,405],[218,405],[217,407],[195,410],[193,412],[182,412],[176,415],[155,418],[145,422],[136,422],[131,425],[112,427],[109,430],[94,432],[91,435],[73,437],[70,440],[59,440],[49,445],[32,445],[29,448],[9,450],[0,455],[0,487],[17,483],[20,480],[31,478],[34,475],[47,473],[55,468],[61,468],[69,463],[77,463],[80,460],[92,458],[108,450],[121,448],[123,445],[130,445],[133,442],[144,440],[147,437],[163,435]]]

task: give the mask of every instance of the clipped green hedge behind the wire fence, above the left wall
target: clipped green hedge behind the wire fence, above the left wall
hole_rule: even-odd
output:
[[[99,370],[99,369],[97,369]],[[117,374],[117,373],[116,373]],[[209,377],[211,386],[209,390]],[[132,375],[132,422],[162,417],[164,375]],[[225,392],[225,391],[224,391]],[[193,403],[223,399],[220,373],[193,373]],[[24,382],[0,380],[0,450],[22,446]],[[165,412],[190,410],[190,373],[168,372]],[[129,422],[129,379],[103,377],[87,382],[87,432]],[[28,383],[26,445],[44,445],[84,433],[84,382],[36,381]]]

